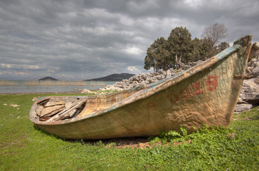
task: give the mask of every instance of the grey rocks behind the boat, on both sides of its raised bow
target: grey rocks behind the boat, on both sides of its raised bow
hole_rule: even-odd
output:
[[[238,98],[238,105],[235,108],[235,112],[241,112],[244,110],[249,110],[253,108],[253,105],[259,104],[259,42],[253,44],[250,58],[248,62],[248,67],[245,71],[245,80],[243,81],[243,88]],[[182,73],[183,69],[191,68],[202,61],[189,63],[189,65],[181,64],[179,69],[170,69],[168,71],[159,71],[153,73],[140,73],[136,76],[132,76],[129,79],[124,79],[123,81],[116,82],[113,85],[106,86],[106,88],[101,88],[97,91],[98,94],[105,91],[121,91],[130,88],[136,88],[141,86],[146,86],[156,81],[161,81],[164,78],[169,78],[175,76],[176,74]],[[182,69],[183,68],[183,69]],[[82,93],[96,93],[96,91],[84,89]]]

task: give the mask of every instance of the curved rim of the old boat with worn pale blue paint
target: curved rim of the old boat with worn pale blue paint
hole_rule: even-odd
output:
[[[246,36],[246,37],[248,37],[248,40],[249,40],[249,36]],[[245,36],[243,38],[245,38]],[[91,113],[88,115],[84,115],[84,116],[81,116],[78,118],[45,122],[45,121],[36,120],[34,118],[34,116],[36,116],[36,112],[34,111],[34,109],[36,108],[36,103],[39,103],[39,100],[37,100],[34,103],[34,105],[31,107],[30,119],[36,125],[65,125],[68,123],[75,123],[75,122],[78,122],[81,120],[86,120],[88,118],[93,118],[93,117],[97,118],[98,116],[108,113],[111,110],[116,110],[117,108],[121,108],[124,105],[130,105],[131,103],[136,102],[137,100],[141,100],[143,98],[148,98],[149,96],[151,96],[155,93],[158,93],[161,90],[165,90],[166,88],[168,88],[170,86],[176,85],[177,83],[184,81],[187,78],[190,78],[191,76],[195,75],[195,73],[199,73],[201,71],[204,71],[207,68],[210,68],[215,63],[222,61],[224,58],[227,58],[231,54],[238,51],[240,49],[240,46],[242,46],[242,43],[243,43],[243,42],[240,42],[240,40],[241,40],[241,38],[238,41],[235,41],[233,47],[225,49],[221,53],[218,53],[216,56],[209,58],[207,61],[204,61],[203,63],[200,63],[197,66],[193,66],[192,68],[189,68],[188,70],[184,71],[183,73],[181,73],[179,75],[172,76],[170,78],[165,78],[156,83],[151,83],[150,85],[141,88],[141,90],[139,90],[140,88],[133,88],[131,90],[123,90],[121,92],[118,92],[118,94],[119,94],[119,93],[124,93],[126,91],[136,91],[136,93],[134,93],[133,95],[130,95],[128,98],[125,98],[125,99],[119,101],[118,103],[111,105],[111,107],[109,107],[109,108],[105,108],[103,110],[98,110],[97,112],[94,112],[94,113]],[[99,96],[99,95],[93,95],[93,96]],[[78,97],[83,97],[83,95],[78,96]],[[46,98],[49,98],[49,97],[41,98],[40,100],[44,100]]]

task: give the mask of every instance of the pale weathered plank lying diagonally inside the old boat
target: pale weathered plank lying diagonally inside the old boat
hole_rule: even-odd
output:
[[[61,120],[61,119],[67,118],[67,117],[71,118],[71,117],[73,117],[73,115],[78,114],[78,112],[76,112],[76,111],[78,109],[81,109],[82,105],[84,103],[86,103],[86,98],[76,100],[74,103],[72,103],[68,107],[64,108],[64,110],[61,110],[59,113],[56,113],[56,115],[54,115],[54,117],[52,117],[46,121],[51,122],[51,121]]]

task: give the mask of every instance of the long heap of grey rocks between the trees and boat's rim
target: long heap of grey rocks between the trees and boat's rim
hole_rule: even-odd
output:
[[[120,82],[116,82],[113,85],[108,85],[106,88],[101,88],[101,91],[104,90],[126,90],[130,88],[136,88],[141,86],[146,86],[150,83],[155,83],[156,81],[160,81],[164,78],[169,78],[171,76],[174,76],[178,73],[182,73],[183,69],[173,70],[170,69],[168,71],[159,71],[154,73],[140,73],[136,76],[132,76],[128,80],[123,80]]]

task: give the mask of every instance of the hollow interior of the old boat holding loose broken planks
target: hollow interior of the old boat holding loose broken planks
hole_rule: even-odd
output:
[[[106,110],[138,90],[123,90],[106,95],[53,96],[37,100],[34,114],[39,121],[59,121],[91,115]]]

